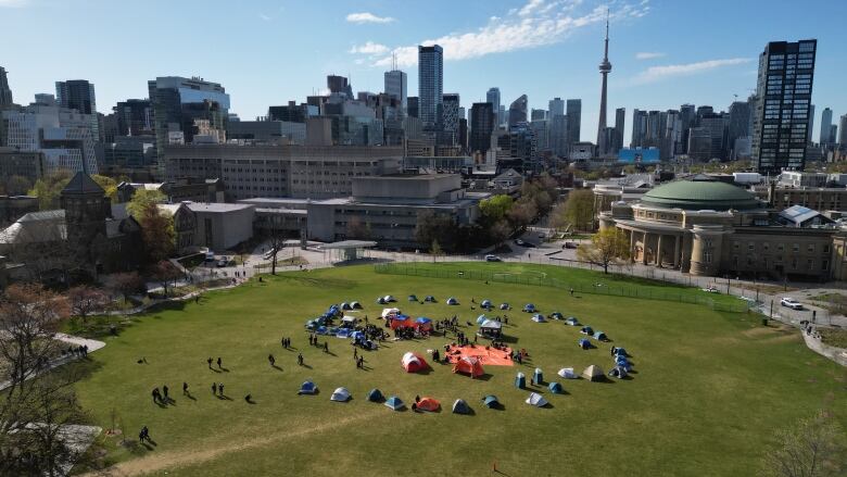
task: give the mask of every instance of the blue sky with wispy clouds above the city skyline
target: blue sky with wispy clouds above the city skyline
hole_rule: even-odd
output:
[[[821,112],[847,114],[847,1],[807,0],[0,0],[0,66],[15,102],[88,79],[101,113],[146,98],[156,76],[222,84],[243,120],[349,76],[379,92],[392,53],[417,96],[417,45],[444,48],[444,92],[470,111],[500,87],[530,108],[582,99],[582,140],[595,140],[605,12],[611,17],[608,117],[627,109],[726,110],[756,88],[768,41],[817,38],[813,138]],[[838,47],[842,45],[842,47]],[[838,53],[842,51],[842,53]]]

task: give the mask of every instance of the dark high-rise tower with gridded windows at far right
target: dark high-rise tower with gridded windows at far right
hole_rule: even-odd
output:
[[[802,171],[818,40],[772,41],[759,55],[753,158],[759,173]]]

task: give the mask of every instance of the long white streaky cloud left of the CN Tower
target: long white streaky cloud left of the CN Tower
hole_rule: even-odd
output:
[[[488,23],[476,30],[452,33],[418,45],[440,45],[447,61],[555,45],[580,28],[605,22],[605,5],[577,12],[581,4],[582,0],[528,0],[520,9],[489,17]],[[640,17],[647,9],[646,3],[617,3],[611,20]],[[415,45],[374,53],[379,57],[374,59],[372,65],[390,66],[391,53],[396,54],[400,66],[413,66],[418,62],[418,47]]]

